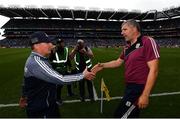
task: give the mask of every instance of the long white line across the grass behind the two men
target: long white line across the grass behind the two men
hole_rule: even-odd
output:
[[[179,92],[165,92],[165,93],[156,93],[156,94],[151,94],[150,97],[160,97],[160,96],[168,96],[168,95],[178,95],[180,94]],[[117,99],[122,99],[122,97],[112,97],[111,100],[117,100]],[[101,99],[98,98],[98,101],[100,101]],[[106,100],[106,98],[103,98],[103,100]],[[86,99],[85,101],[90,101],[89,99]],[[66,100],[63,101],[64,103],[77,103],[77,102],[81,102],[80,100]],[[2,107],[16,107],[19,106],[19,104],[0,104],[0,108]]]

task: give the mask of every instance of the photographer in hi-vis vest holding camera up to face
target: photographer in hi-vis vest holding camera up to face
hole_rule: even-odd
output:
[[[77,41],[77,45],[70,53],[70,58],[71,59],[74,58],[74,61],[76,63],[77,73],[83,72],[86,67],[90,71],[92,68],[91,59],[93,57],[94,57],[93,52],[91,51],[89,47],[85,46],[84,41],[81,39]],[[91,101],[94,101],[93,82],[89,80],[85,80],[85,79],[83,79],[82,81],[79,81],[80,99],[82,102],[85,101],[85,81],[87,83],[89,99]]]

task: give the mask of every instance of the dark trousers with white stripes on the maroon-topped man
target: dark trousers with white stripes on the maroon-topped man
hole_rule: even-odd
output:
[[[115,118],[121,118],[123,115],[127,114],[129,110],[131,110],[132,105],[135,104],[141,95],[142,91],[144,89],[144,84],[134,84],[134,83],[128,83],[126,85],[124,96],[117,107],[114,117]],[[128,116],[128,118],[138,118],[140,115],[140,110],[136,106]]]

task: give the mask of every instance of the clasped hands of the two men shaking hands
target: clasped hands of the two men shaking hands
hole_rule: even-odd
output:
[[[96,73],[98,73],[99,71],[103,70],[103,63],[98,63],[96,65],[94,65],[94,67],[91,69],[91,71],[89,72],[87,70],[87,68],[83,71],[83,75],[84,78],[87,80],[92,80],[95,78]]]

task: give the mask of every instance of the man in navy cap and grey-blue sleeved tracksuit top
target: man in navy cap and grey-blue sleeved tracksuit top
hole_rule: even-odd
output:
[[[47,34],[35,32],[31,35],[32,53],[24,68],[23,94],[20,106],[26,107],[27,116],[44,118],[59,117],[56,104],[56,84],[66,84],[83,78],[93,79],[94,74],[83,73],[63,76],[53,70],[48,62],[53,45]]]

